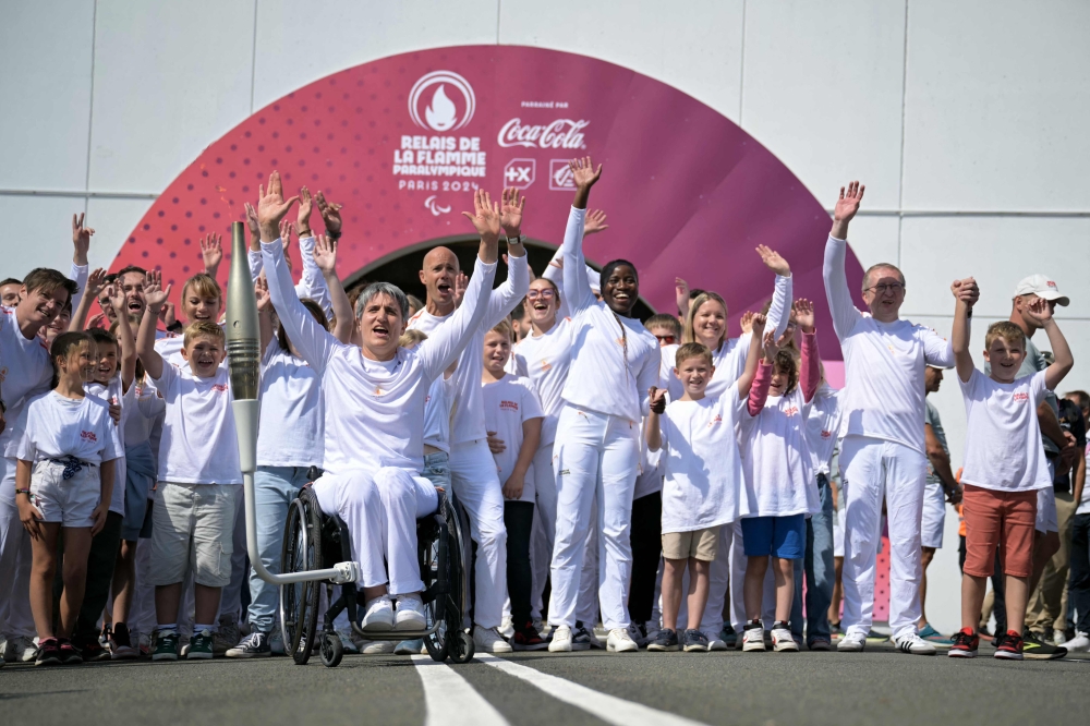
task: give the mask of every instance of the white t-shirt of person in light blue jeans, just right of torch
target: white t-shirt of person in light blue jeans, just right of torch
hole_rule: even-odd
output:
[[[276,338],[262,356],[261,467],[322,467],[322,380]]]

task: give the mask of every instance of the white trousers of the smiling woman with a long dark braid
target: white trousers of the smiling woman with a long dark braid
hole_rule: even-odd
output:
[[[580,571],[593,531],[600,535],[597,585],[603,625],[607,630],[628,627],[629,531],[640,464],[639,436],[638,422],[570,406],[560,412],[553,459],[557,515],[548,619],[554,626],[576,624]]]

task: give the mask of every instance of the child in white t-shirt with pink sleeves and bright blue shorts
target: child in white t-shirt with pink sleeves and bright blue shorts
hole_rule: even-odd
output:
[[[801,360],[796,361],[790,351],[777,348],[772,336],[765,336],[764,361],[750,390],[750,410],[760,403],[760,413],[742,436],[746,476],[741,525],[748,619],[742,651],[765,650],[761,612],[770,557],[776,584],[773,648],[799,650],[789,627],[794,560],[806,552],[806,518],[821,509],[807,444],[807,418],[821,379],[813,304],[798,300],[794,312],[802,334]]]

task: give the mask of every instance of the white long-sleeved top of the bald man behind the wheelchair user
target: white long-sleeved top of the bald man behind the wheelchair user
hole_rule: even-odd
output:
[[[528,256],[508,257],[508,259],[510,264],[507,280],[488,295],[484,317],[465,347],[469,353],[458,360],[458,367],[452,376],[456,394],[451,399],[455,411],[450,421],[451,445],[485,438],[484,410],[481,402],[481,374],[484,371],[484,355],[481,351],[484,350],[484,337],[514,310],[530,288]],[[453,313],[443,317],[432,315],[424,307],[409,318],[409,327],[432,337],[452,316]]]

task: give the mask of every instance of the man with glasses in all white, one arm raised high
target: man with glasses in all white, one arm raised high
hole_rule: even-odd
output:
[[[825,293],[833,328],[844,352],[844,440],[841,487],[846,503],[844,531],[844,639],[841,652],[862,651],[874,610],[874,576],[881,536],[882,500],[889,525],[889,627],[905,653],[934,655],[920,638],[920,528],[928,468],[924,443],[927,366],[948,368],[954,352],[930,328],[899,317],[905,276],[892,264],[874,265],[863,275],[862,313],[851,302],[845,274],[848,222],[859,210],[864,187],[851,182],[833,213],[825,245]],[[959,290],[970,305],[976,285]]]

